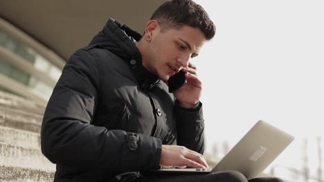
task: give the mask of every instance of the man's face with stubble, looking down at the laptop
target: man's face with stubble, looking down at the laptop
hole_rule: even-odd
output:
[[[197,57],[206,38],[201,30],[188,26],[178,30],[160,30],[158,27],[152,32],[148,48],[150,56],[143,60],[143,65],[163,81],[168,81],[172,75],[188,66],[190,58]]]

